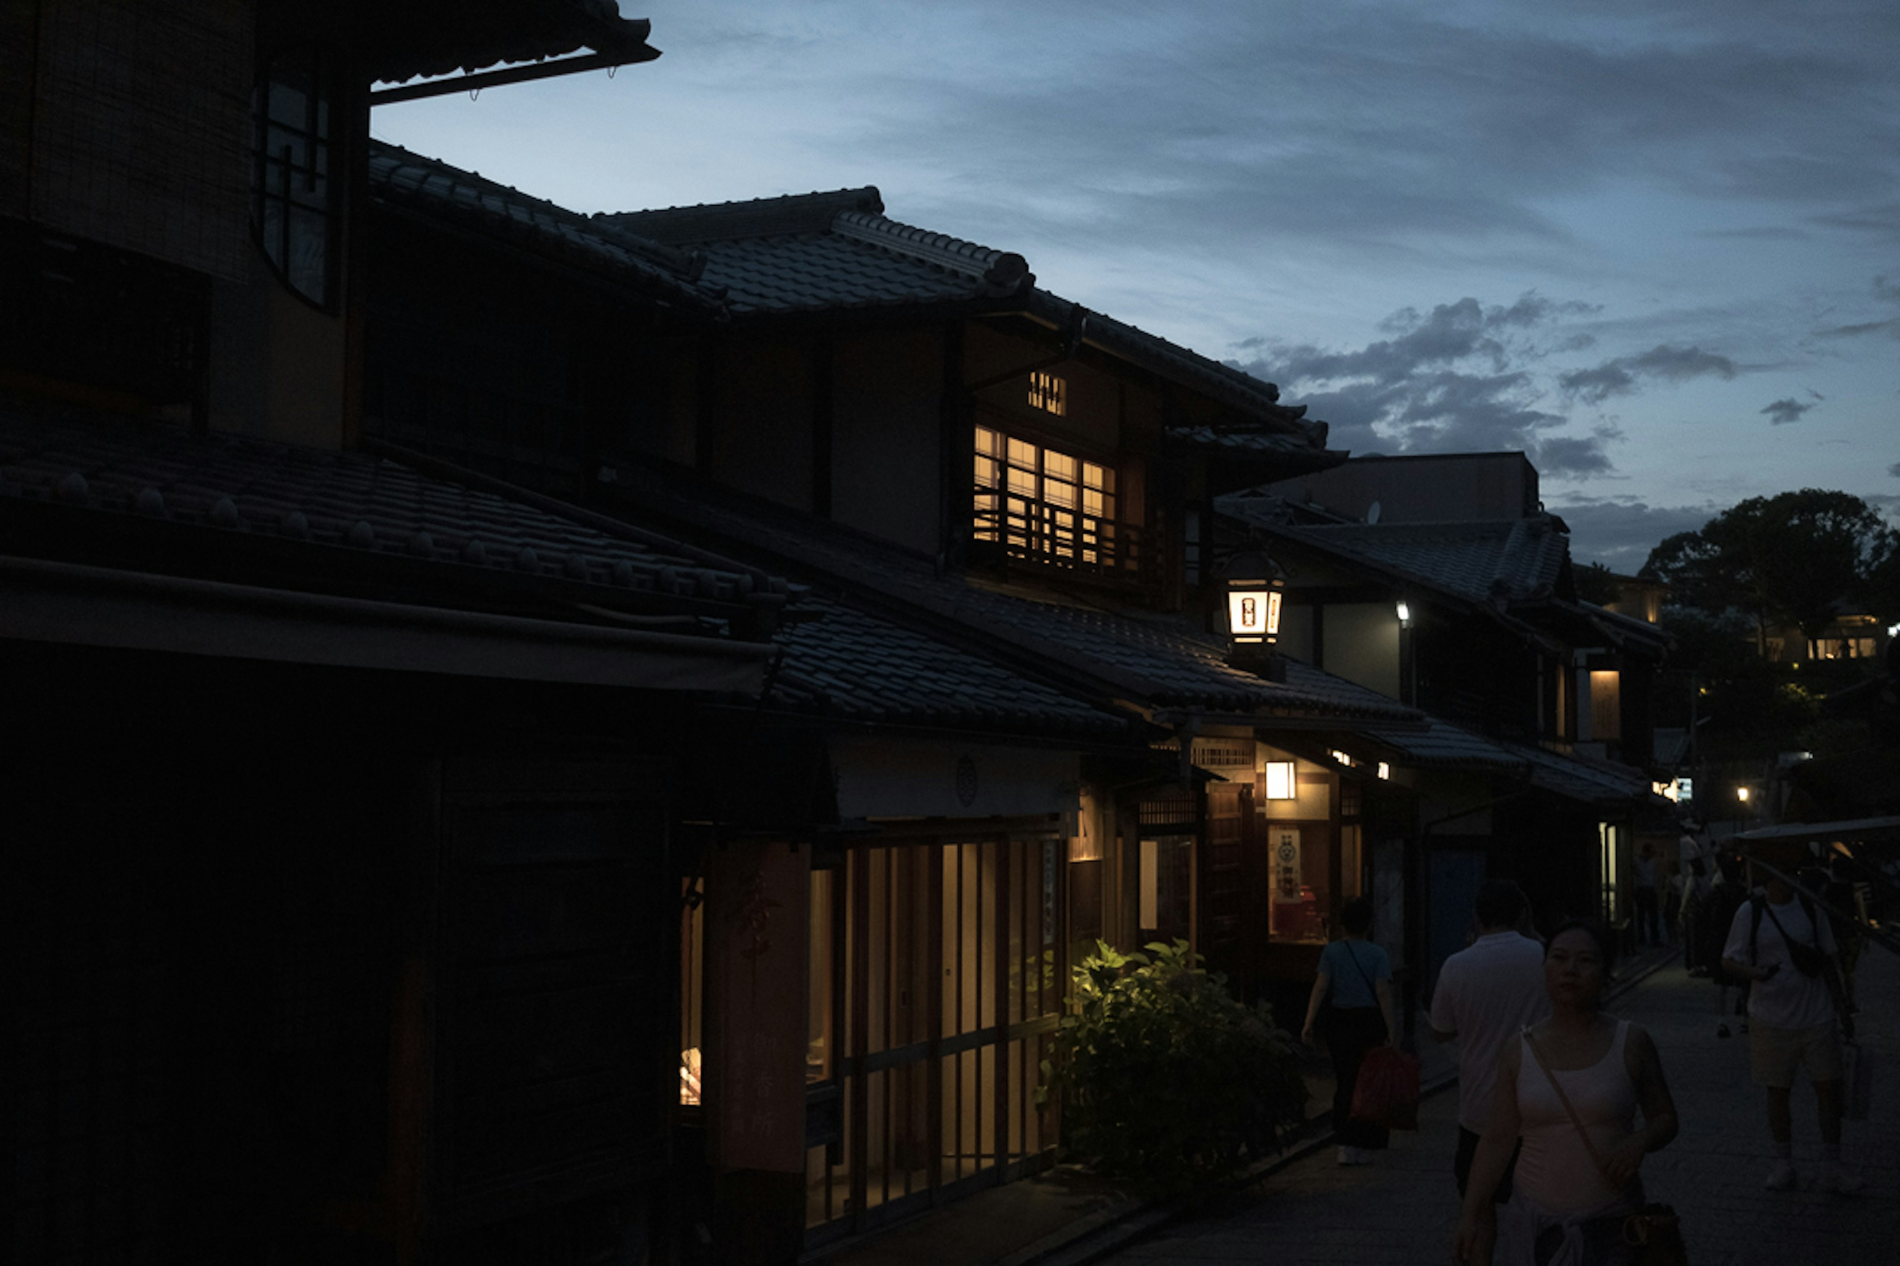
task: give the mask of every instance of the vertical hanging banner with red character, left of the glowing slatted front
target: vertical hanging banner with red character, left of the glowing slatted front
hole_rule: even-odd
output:
[[[705,1107],[726,1171],[804,1173],[809,879],[783,841],[707,858]]]

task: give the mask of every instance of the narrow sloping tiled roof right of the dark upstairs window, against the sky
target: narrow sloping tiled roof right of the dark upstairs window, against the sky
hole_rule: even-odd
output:
[[[705,260],[642,241],[566,207],[484,180],[439,159],[370,140],[369,188],[378,203],[462,224],[545,258],[574,264],[659,302],[707,313],[718,296],[695,285]]]

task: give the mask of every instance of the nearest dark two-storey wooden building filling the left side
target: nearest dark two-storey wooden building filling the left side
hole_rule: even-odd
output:
[[[678,1253],[695,771],[785,585],[357,446],[372,84],[644,34],[0,11],[8,1260]]]

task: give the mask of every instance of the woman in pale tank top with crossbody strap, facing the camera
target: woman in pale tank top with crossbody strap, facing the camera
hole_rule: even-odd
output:
[[[1602,1014],[1615,949],[1566,922],[1545,949],[1550,1015],[1507,1042],[1492,1114],[1471,1165],[1454,1257],[1474,1260],[1486,1205],[1518,1150],[1497,1226],[1501,1266],[1624,1266],[1624,1220],[1644,1205],[1640,1169],[1676,1137],[1676,1101],[1655,1042]],[[1642,1127],[1636,1116],[1642,1114]]]

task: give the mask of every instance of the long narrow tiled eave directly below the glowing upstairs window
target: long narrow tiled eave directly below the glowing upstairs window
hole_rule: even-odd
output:
[[[1222,643],[1168,617],[1003,592],[980,579],[942,573],[927,558],[838,530],[760,501],[688,490],[674,476],[621,467],[616,484],[640,512],[657,512],[694,531],[720,535],[726,549],[762,552],[773,568],[844,583],[859,594],[901,604],[912,613],[961,628],[986,645],[1009,645],[1037,664],[1039,676],[1083,676],[1123,698],[1157,708],[1203,708],[1302,717],[1381,717],[1417,714],[1381,695],[1319,670],[1294,666],[1286,683],[1265,681],[1226,662]]]

